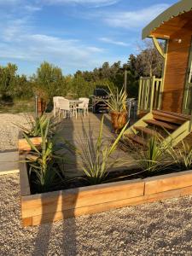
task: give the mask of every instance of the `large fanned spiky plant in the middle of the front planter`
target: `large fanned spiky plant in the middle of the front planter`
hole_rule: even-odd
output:
[[[102,116],[99,136],[96,143],[93,137],[84,131],[84,139],[81,142],[81,148],[77,150],[81,159],[80,164],[85,175],[84,178],[90,184],[103,183],[107,179],[110,168],[115,164],[114,160],[110,160],[110,156],[117,148],[119,139],[122,137],[127,126],[125,125],[113,143],[108,143],[102,138],[103,120],[104,116]]]

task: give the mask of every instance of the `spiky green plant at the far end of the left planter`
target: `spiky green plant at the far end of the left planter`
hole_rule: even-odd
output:
[[[45,113],[35,119],[33,119],[32,116],[28,116],[26,119],[26,126],[18,124],[17,126],[23,131],[23,135],[26,135],[27,137],[40,137],[48,123],[49,134],[54,133],[55,126],[57,125],[56,120],[52,117],[49,118]]]

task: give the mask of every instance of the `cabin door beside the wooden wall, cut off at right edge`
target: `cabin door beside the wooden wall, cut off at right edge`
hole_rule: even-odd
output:
[[[186,75],[186,84],[183,96],[183,113],[191,114],[192,112],[192,44],[189,52],[189,64]]]

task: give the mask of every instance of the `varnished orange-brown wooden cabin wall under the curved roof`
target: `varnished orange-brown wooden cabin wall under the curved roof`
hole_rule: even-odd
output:
[[[182,113],[191,34],[189,30],[182,30],[169,40],[162,110]],[[182,39],[182,42],[179,44],[176,39]]]

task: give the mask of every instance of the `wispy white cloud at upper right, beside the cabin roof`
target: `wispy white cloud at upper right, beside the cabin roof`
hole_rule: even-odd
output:
[[[160,15],[168,7],[168,4],[162,3],[137,11],[111,12],[105,15],[104,21],[109,26],[134,29],[147,25],[148,22],[154,20],[157,15]]]

